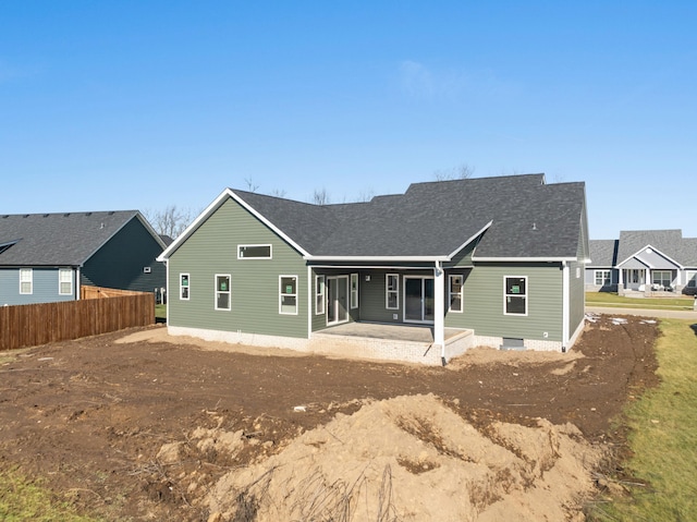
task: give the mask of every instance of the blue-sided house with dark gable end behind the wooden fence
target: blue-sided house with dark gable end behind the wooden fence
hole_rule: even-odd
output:
[[[137,210],[0,215],[0,305],[78,300],[81,284],[152,292],[163,250]]]

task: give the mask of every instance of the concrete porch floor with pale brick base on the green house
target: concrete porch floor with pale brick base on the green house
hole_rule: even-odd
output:
[[[474,345],[473,330],[444,328],[438,344],[432,325],[352,321],[313,332],[313,349],[341,356],[444,365]]]

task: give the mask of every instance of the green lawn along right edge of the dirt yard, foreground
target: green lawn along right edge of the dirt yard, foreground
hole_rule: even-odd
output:
[[[621,483],[628,495],[596,503],[589,521],[697,520],[697,324],[662,319],[660,328],[662,383],[626,410],[633,457],[623,465],[636,481]]]

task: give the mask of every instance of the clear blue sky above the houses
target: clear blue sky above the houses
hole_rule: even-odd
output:
[[[697,2],[0,2],[0,214],[585,182],[697,238]],[[512,202],[514,204],[514,202]]]

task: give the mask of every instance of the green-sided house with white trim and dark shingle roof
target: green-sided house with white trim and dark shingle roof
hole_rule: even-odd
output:
[[[584,325],[587,230],[584,183],[543,174],[339,205],[228,189],[159,258],[168,327],[311,351],[341,324],[426,325],[443,363],[469,345],[565,351]],[[447,349],[447,329],[467,341]]]

